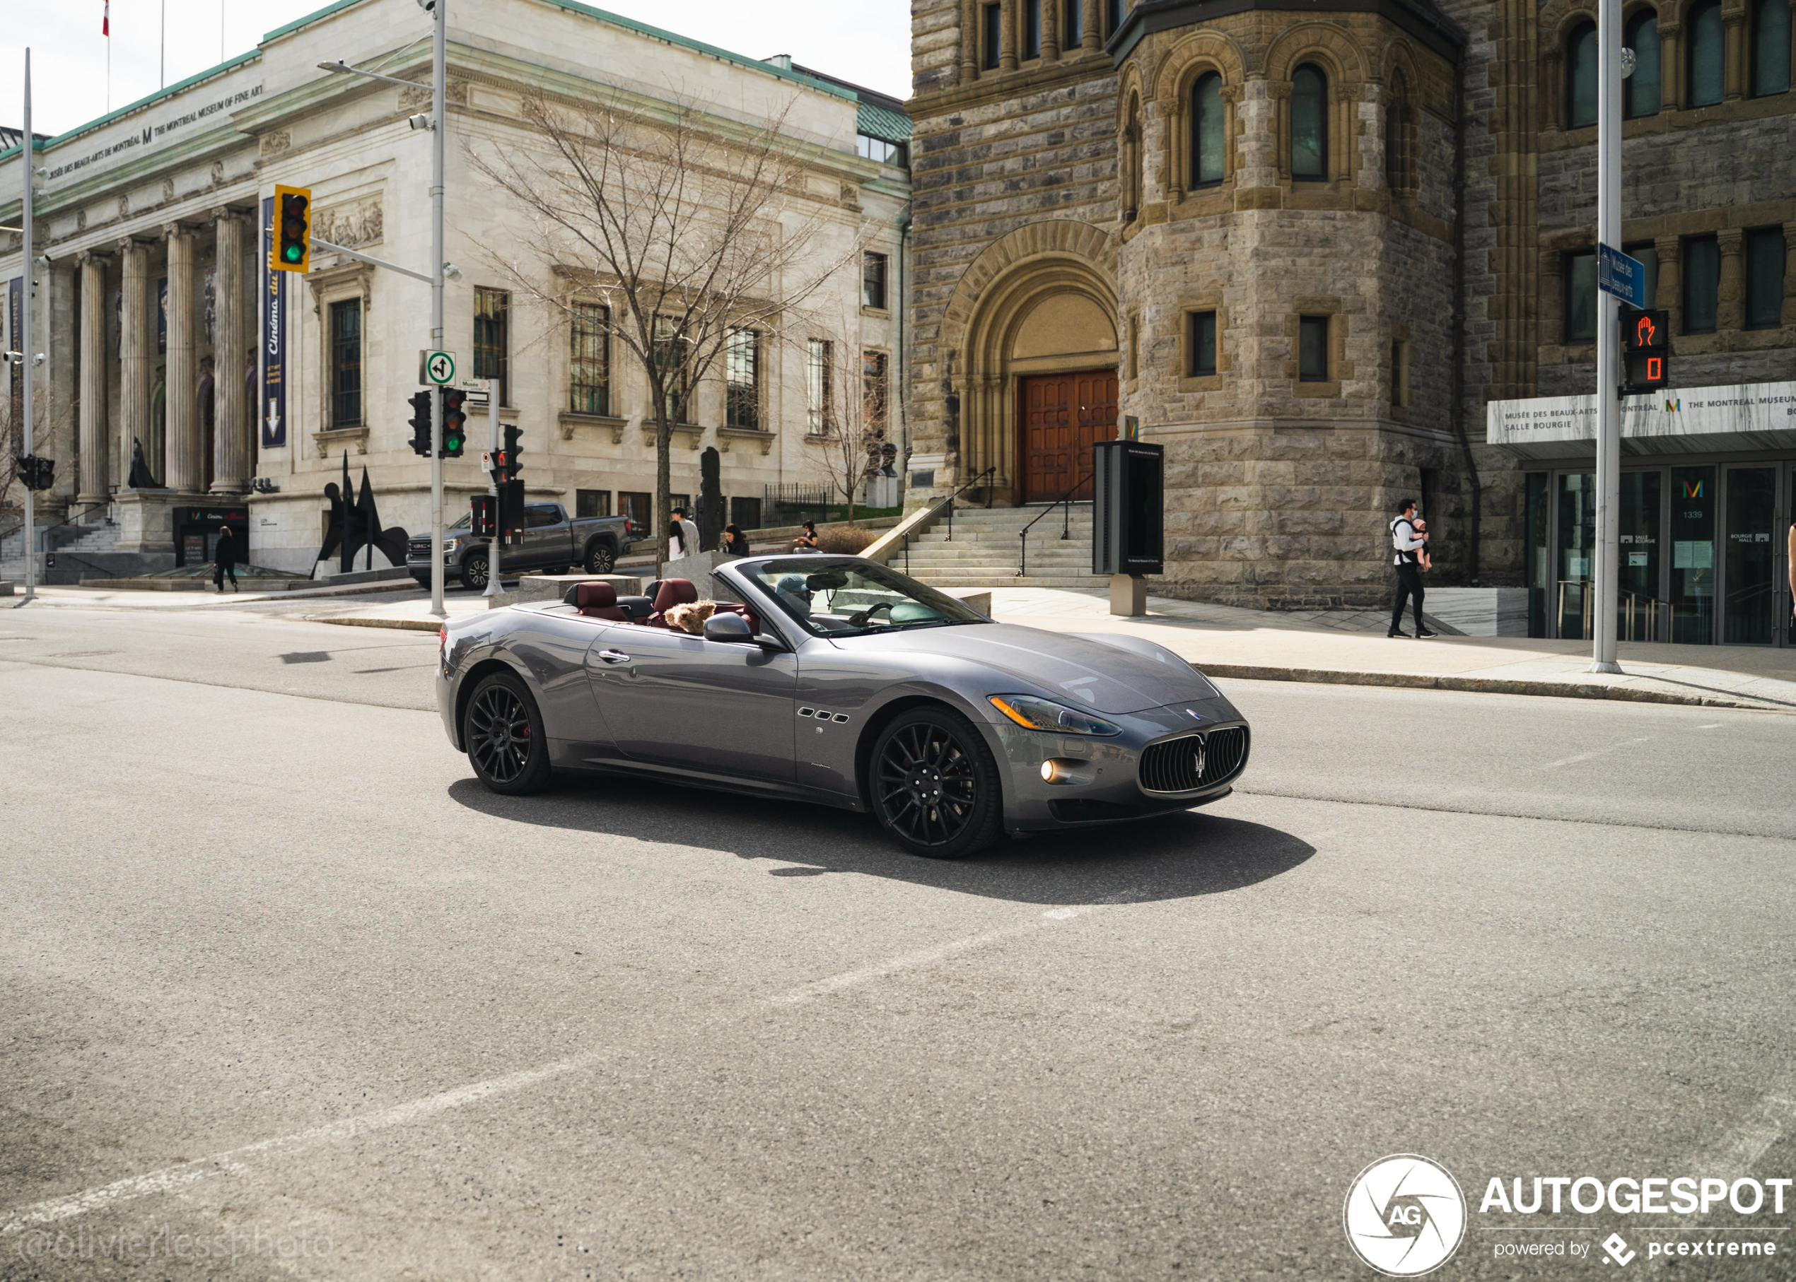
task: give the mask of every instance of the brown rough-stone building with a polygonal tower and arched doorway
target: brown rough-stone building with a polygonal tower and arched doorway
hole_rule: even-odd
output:
[[[1625,23],[1624,246],[1676,391],[1631,420],[1624,636],[1787,643],[1791,0]],[[1060,499],[1135,420],[1151,591],[1388,600],[1413,496],[1433,584],[1588,636],[1589,424],[1500,408],[1595,390],[1589,0],[916,0],[912,75],[912,505]]]

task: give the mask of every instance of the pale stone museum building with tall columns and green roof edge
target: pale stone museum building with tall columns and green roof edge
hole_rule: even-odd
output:
[[[307,275],[275,273],[264,241],[275,185],[307,187],[318,237],[427,271],[431,135],[408,117],[429,111],[429,52],[415,0],[338,0],[248,54],[34,140],[47,255],[34,273],[38,332],[18,334],[25,264],[13,232],[0,232],[0,325],[11,348],[48,357],[34,397],[38,452],[56,460],[38,508],[40,546],[57,557],[52,582],[208,558],[221,519],[248,524],[250,562],[309,575],[345,456],[354,485],[368,470],[384,524],[429,528],[429,460],[411,451],[408,426],[429,285],[321,250]],[[339,59],[418,84],[320,70]],[[476,169],[478,156],[519,145],[526,92],[645,115],[677,101],[715,136],[749,136],[785,113],[783,136],[806,156],[797,205],[826,215],[819,253],[846,266],[810,300],[812,329],[731,336],[717,377],[691,390],[674,433],[677,497],[697,496],[711,447],[731,517],[747,526],[762,524],[769,487],[823,483],[814,399],[819,386],[848,393],[832,393],[830,370],[850,370],[882,413],[891,404],[898,438],[903,104],[787,56],[745,57],[571,0],[460,0],[445,140],[458,271],[444,345],[458,382],[492,379],[501,424],[523,429],[533,501],[629,515],[645,535],[665,515],[650,510],[643,372],[585,323],[605,305],[580,293],[589,273],[535,262],[526,214]],[[0,144],[5,228],[20,221],[18,142]],[[568,307],[530,305],[506,264],[560,282]],[[0,377],[16,404],[18,372]],[[487,490],[485,415],[471,406],[469,449],[444,465],[449,522]],[[16,524],[14,512],[0,533]],[[18,544],[14,533],[7,555]]]

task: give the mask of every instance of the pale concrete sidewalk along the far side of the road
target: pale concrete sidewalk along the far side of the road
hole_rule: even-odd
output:
[[[451,618],[485,609],[480,596],[449,596]],[[1503,695],[1627,698],[1656,704],[1756,707],[1796,713],[1796,650],[1622,643],[1622,675],[1586,672],[1588,641],[1527,637],[1390,639],[1264,610],[1149,598],[1148,616],[1110,614],[1103,589],[995,587],[991,614],[1049,632],[1126,632],[1148,637],[1216,677],[1351,686],[1467,689]],[[332,603],[307,610],[316,623],[417,628],[438,619],[422,596]]]

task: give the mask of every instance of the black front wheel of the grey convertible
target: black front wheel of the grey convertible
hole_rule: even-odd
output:
[[[952,707],[898,716],[873,743],[867,794],[880,828],[911,855],[964,858],[1004,828],[991,751]]]

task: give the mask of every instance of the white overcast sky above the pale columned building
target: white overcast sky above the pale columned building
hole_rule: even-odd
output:
[[[167,7],[167,83],[255,48],[262,36],[329,0],[111,0],[111,106],[154,93]],[[456,0],[449,0],[454,22]],[[612,0],[600,9],[911,97],[907,0]],[[23,61],[31,47],[32,129],[57,135],[106,113],[102,0],[5,0],[0,31],[0,124],[23,120]],[[418,14],[422,22],[422,14]],[[223,31],[221,31],[223,29]],[[223,56],[219,48],[223,47]]]

